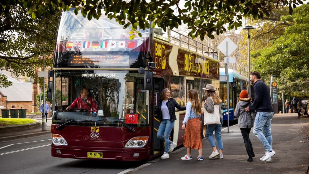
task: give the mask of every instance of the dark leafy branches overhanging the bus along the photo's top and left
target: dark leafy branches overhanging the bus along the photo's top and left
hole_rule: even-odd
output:
[[[184,2],[184,4],[182,3]],[[6,69],[14,75],[35,78],[35,67],[42,66],[39,55],[53,53],[55,33],[61,10],[76,7],[89,20],[98,19],[102,13],[115,18],[124,27],[134,29],[154,27],[166,30],[186,24],[188,36],[205,35],[214,38],[227,29],[242,26],[243,17],[260,19],[270,12],[286,6],[292,14],[303,0],[14,0],[0,2],[0,70]],[[104,8],[102,8],[104,7]],[[152,26],[150,26],[152,21]],[[138,33],[138,31],[136,31]],[[140,33],[138,33],[140,34]],[[51,65],[51,60],[47,60]],[[0,77],[0,86],[9,82]]]

